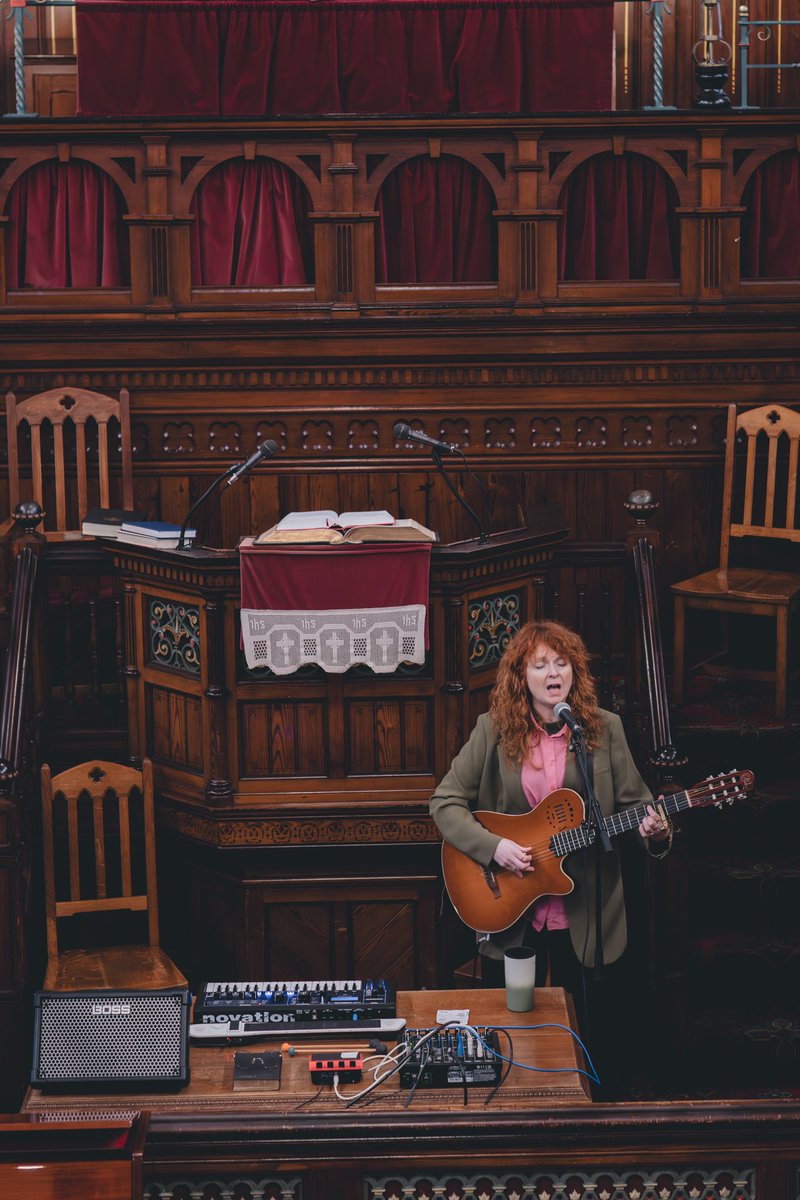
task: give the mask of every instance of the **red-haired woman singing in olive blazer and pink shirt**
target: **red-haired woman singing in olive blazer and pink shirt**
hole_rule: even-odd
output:
[[[529,622],[509,642],[498,667],[489,712],[477,719],[469,740],[431,798],[431,815],[443,838],[482,865],[494,863],[522,876],[534,871],[531,847],[488,833],[473,811],[527,812],[560,787],[582,791],[570,731],[554,708],[566,701],[583,726],[591,751],[594,790],[603,816],[652,802],[628,750],[622,724],[597,706],[589,653],[581,637],[555,622]],[[585,799],[585,798],[584,798]],[[648,803],[638,827],[646,850],[662,858],[672,842],[668,821]],[[510,929],[479,935],[485,985],[503,984],[503,954],[512,946],[536,949],[537,983],[575,994],[581,1007],[583,967],[595,964],[596,854],[567,860],[576,888],[543,895]],[[625,949],[627,932],[620,862],[602,854],[602,950],[606,964]]]

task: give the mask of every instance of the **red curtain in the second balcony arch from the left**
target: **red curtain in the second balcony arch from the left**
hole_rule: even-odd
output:
[[[192,282],[269,287],[313,280],[308,192],[271,158],[233,158],[192,197]]]

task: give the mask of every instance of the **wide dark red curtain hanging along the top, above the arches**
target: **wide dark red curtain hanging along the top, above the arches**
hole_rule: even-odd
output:
[[[608,109],[613,0],[78,0],[78,112]]]

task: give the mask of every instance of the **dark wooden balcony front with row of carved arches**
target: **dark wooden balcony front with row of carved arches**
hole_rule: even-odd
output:
[[[0,131],[1,140],[1,131]],[[0,320],[36,311],[170,319],[198,316],[224,326],[247,314],[281,320],[329,317],[419,319],[602,314],[688,314],[698,306],[763,312],[800,300],[800,280],[745,277],[742,230],[748,185],[768,160],[796,154],[796,122],[765,113],[596,114],[533,119],[315,119],[211,121],[20,121],[4,151],[0,227],[12,190],[34,167],[91,164],[120,196],[130,247],[130,287],[8,288],[0,270]],[[674,278],[577,281],[559,268],[565,187],[594,156],[648,160],[674,197]],[[497,278],[425,284],[375,281],[375,223],[386,178],[411,158],[449,156],[492,192]],[[314,266],[291,286],[200,287],[192,278],[193,202],[210,172],[270,160],[308,193]],[[612,200],[609,199],[609,203]],[[762,222],[764,216],[762,214]],[[569,233],[569,229],[567,229]],[[6,250],[8,233],[5,235]],[[1,268],[0,263],[0,268]],[[774,274],[774,271],[772,271]]]

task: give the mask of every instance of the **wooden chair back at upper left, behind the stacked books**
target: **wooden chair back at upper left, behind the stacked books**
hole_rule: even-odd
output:
[[[13,512],[20,499],[34,499],[47,511],[47,497],[55,494],[55,533],[79,532],[90,508],[112,506],[109,463],[114,451],[109,438],[109,422],[119,421],[121,444],[122,508],[133,508],[133,469],[131,460],[131,416],[128,394],[120,391],[119,400],[82,388],[55,388],[17,403],[12,391],[6,395],[6,428],[8,438],[8,498]],[[97,479],[88,470],[86,424],[97,425]],[[43,425],[53,430],[53,480],[46,479]],[[30,472],[32,497],[20,496],[19,426],[30,427]],[[72,439],[65,439],[68,425],[74,427],[74,472],[67,469]],[[67,446],[68,442],[68,446]],[[49,450],[49,443],[48,448]],[[47,463],[49,466],[49,463]],[[76,481],[76,492],[72,481]],[[52,530],[52,524],[50,524]],[[53,532],[53,530],[52,530]]]

